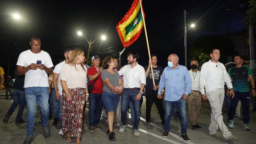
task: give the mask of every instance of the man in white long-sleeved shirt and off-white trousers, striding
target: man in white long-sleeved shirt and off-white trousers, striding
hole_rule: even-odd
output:
[[[222,136],[217,133],[220,127],[223,137],[229,142],[233,142],[238,140],[238,138],[233,136],[228,130],[221,115],[225,96],[224,82],[227,84],[228,89],[230,89],[232,98],[235,96],[233,86],[225,66],[218,61],[220,59],[220,50],[211,50],[210,56],[211,60],[202,65],[199,78],[199,91],[201,92],[202,99],[208,99],[212,109],[209,136],[221,139]]]

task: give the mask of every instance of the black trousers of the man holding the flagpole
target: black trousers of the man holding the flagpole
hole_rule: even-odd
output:
[[[164,124],[164,106],[163,99],[157,98],[157,90],[146,90],[146,121],[151,122],[151,107],[153,102],[156,104],[158,109],[161,123]]]

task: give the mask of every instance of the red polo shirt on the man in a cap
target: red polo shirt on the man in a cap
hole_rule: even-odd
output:
[[[87,76],[95,75],[97,72],[98,72],[97,69],[94,66],[92,66],[92,67],[88,68]],[[95,81],[95,79],[92,81],[89,81],[89,85],[93,84],[94,81]],[[102,94],[102,88],[103,88],[103,82],[101,80],[101,73],[100,73],[96,79],[94,86],[93,86],[92,93]]]

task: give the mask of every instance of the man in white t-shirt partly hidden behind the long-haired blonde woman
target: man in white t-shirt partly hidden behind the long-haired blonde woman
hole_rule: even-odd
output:
[[[61,70],[62,70],[63,65],[68,62],[71,54],[72,54],[71,48],[65,49],[64,50],[65,60],[63,62],[57,64],[53,70],[53,87],[54,87],[54,91],[55,91],[55,97],[56,97],[56,100],[58,101],[58,105],[59,105],[59,121],[60,121],[59,135],[64,135],[62,132],[62,108],[61,108],[62,86],[60,84]]]

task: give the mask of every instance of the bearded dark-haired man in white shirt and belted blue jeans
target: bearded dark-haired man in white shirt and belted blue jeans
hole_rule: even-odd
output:
[[[128,65],[125,65],[118,71],[120,76],[124,75],[124,91],[121,102],[122,126],[119,129],[119,132],[123,133],[124,129],[127,127],[126,111],[131,101],[135,115],[133,134],[134,136],[139,136],[140,133],[138,131],[138,126],[140,122],[140,99],[146,84],[146,75],[144,68],[137,63],[139,59],[138,53],[131,51],[127,54],[127,56]]]

